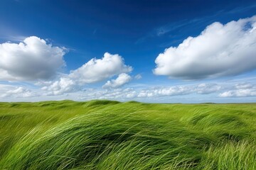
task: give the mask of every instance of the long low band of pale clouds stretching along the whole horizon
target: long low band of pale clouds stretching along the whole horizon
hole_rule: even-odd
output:
[[[219,100],[240,100],[250,97],[253,102],[256,86],[253,83],[225,81],[221,83],[186,84],[176,86],[148,86],[141,88],[90,89],[77,86],[71,79],[61,77],[58,81],[41,82],[42,89],[25,88],[22,84],[0,84],[1,101],[45,101],[70,99],[76,101],[110,99],[118,101],[162,101],[162,102],[218,102]],[[236,82],[236,84],[235,84]],[[46,89],[45,89],[46,88]],[[68,94],[67,94],[68,93]],[[202,96],[203,95],[203,96]],[[179,99],[178,99],[179,98]],[[203,98],[203,99],[202,99]],[[227,98],[227,99],[225,99]],[[177,101],[180,100],[180,101]]]

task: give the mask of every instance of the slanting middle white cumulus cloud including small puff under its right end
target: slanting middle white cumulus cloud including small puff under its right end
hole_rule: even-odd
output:
[[[78,91],[85,84],[92,84],[119,75],[117,79],[107,81],[105,87],[117,88],[129,82],[132,78],[126,74],[132,72],[132,67],[124,64],[120,55],[111,55],[105,52],[101,59],[92,59],[82,67],[70,71],[70,74],[63,74],[56,81],[46,81],[41,84],[43,90],[49,95],[59,95],[66,92]]]

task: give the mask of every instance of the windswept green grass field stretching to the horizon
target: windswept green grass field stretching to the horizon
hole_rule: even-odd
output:
[[[256,104],[0,103],[0,169],[256,169]]]

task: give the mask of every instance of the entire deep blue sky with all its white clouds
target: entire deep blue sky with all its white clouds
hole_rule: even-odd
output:
[[[0,1],[0,101],[256,102],[256,2]]]

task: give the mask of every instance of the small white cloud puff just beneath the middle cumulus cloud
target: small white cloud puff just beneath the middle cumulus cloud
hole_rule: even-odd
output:
[[[124,86],[124,84],[127,84],[131,80],[132,80],[132,77],[130,77],[129,74],[122,73],[122,74],[119,74],[117,79],[112,79],[112,80],[107,81],[107,83],[104,84],[102,86],[102,88],[103,89],[107,89],[107,88],[116,89],[121,86]]]

